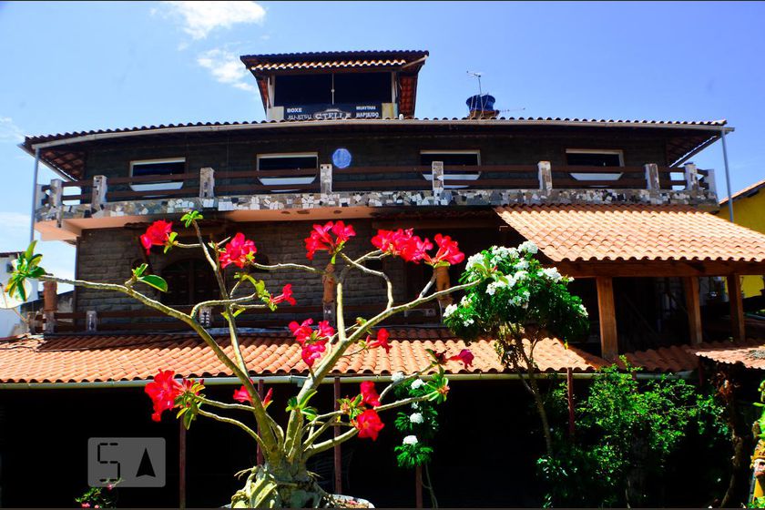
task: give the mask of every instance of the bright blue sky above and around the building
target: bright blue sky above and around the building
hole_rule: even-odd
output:
[[[754,2],[0,3],[0,251],[28,238],[21,137],[262,119],[244,54],[428,49],[418,117],[464,116],[472,70],[505,116],[727,118],[741,189],[765,178],[763,22]],[[722,178],[719,142],[695,162]],[[73,249],[42,245],[72,273]]]

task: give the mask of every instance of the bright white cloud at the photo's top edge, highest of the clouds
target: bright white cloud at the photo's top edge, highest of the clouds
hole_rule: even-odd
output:
[[[266,10],[255,2],[163,2],[172,17],[181,18],[184,32],[204,39],[216,28],[261,24]],[[154,14],[156,11],[152,11]]]

